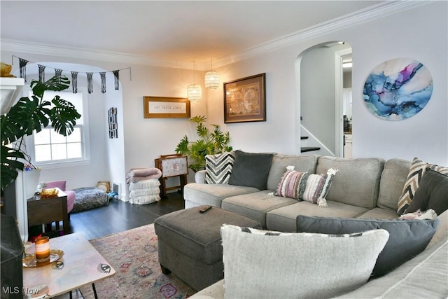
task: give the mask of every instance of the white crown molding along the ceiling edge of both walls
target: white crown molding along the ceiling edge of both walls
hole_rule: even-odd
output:
[[[214,60],[214,67],[223,67],[227,64],[246,60],[250,57],[267,53],[272,50],[290,46],[293,43],[316,38],[324,34],[330,34],[341,29],[356,27],[372,20],[378,20],[389,15],[402,13],[410,9],[417,8],[435,2],[430,1],[384,1],[376,6],[357,11],[343,17],[322,22],[313,27],[300,30],[293,34],[282,36],[279,39],[262,43],[253,48],[248,48],[241,53],[228,55]],[[56,45],[26,43],[24,41],[13,41],[1,39],[1,50],[10,52],[32,53],[40,55],[52,55],[60,57],[76,57],[85,60],[103,60],[110,62],[123,62],[130,64],[144,64],[155,67],[171,67],[177,69],[191,69],[191,62],[181,62],[174,60],[158,60],[152,57],[130,55],[127,53],[117,53],[109,51],[90,50],[85,48],[66,48]],[[207,70],[207,63],[197,63],[198,70]]]

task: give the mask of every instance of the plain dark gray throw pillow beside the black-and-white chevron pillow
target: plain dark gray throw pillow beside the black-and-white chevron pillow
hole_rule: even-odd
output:
[[[235,164],[229,184],[266,190],[267,175],[271,169],[272,153],[245,153],[235,151]]]

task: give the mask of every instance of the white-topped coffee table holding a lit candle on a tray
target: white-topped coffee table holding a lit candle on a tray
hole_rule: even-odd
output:
[[[62,250],[64,256],[50,265],[24,267],[24,290],[46,285],[48,295],[53,297],[76,290],[85,284],[92,284],[95,298],[97,298],[94,282],[116,273],[83,234],[74,233],[52,238],[50,249]],[[27,253],[34,253],[33,251],[34,246]]]

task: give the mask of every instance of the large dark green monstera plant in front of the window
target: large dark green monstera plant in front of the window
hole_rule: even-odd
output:
[[[20,98],[8,113],[0,116],[1,190],[13,183],[18,170],[23,170],[25,163],[29,162],[28,155],[22,151],[25,136],[33,134],[34,130],[41,132],[50,122],[59,134],[68,136],[73,132],[76,120],[80,118],[75,106],[59,95],[51,100],[54,106],[43,100],[46,90],[66,90],[69,85],[70,81],[65,76],[54,76],[46,82],[31,81],[34,95]]]

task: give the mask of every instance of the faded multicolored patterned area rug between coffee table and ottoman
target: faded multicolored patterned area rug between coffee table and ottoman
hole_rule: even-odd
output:
[[[95,283],[98,298],[173,298],[196,293],[174,274],[165,275],[158,261],[154,224],[92,239],[90,243],[116,270]],[[92,286],[80,288],[83,297],[94,298]]]

